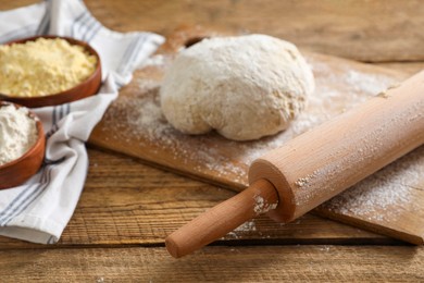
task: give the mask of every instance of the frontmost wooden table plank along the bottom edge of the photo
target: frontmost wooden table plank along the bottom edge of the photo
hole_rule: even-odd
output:
[[[242,255],[242,256],[240,256]],[[3,282],[421,282],[424,249],[384,246],[0,250]]]

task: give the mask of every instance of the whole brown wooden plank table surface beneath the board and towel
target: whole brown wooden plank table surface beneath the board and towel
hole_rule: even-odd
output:
[[[0,10],[34,3],[2,0]],[[105,26],[166,35],[180,24],[263,33],[413,74],[424,5],[413,1],[85,0]],[[424,281],[424,248],[307,214],[248,222],[183,259],[163,239],[235,193],[89,146],[75,213],[57,245],[0,237],[0,282]]]

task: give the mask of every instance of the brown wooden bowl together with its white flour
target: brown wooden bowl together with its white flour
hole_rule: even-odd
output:
[[[0,189],[15,187],[42,164],[46,137],[41,121],[27,108],[0,101]]]

